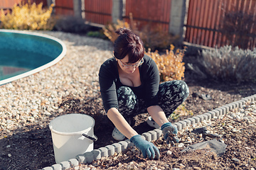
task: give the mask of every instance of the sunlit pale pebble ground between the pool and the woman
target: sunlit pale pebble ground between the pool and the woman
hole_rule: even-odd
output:
[[[112,42],[61,32],[40,33],[62,40],[67,53],[41,72],[1,85],[0,130],[14,130],[62,113],[58,106],[69,94],[85,99],[99,91],[97,74],[100,65],[112,57]]]

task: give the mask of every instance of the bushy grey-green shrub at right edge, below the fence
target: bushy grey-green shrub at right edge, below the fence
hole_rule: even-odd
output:
[[[256,48],[242,50],[226,45],[215,50],[202,50],[199,63],[200,67],[192,64],[188,67],[203,78],[238,84],[256,80]]]

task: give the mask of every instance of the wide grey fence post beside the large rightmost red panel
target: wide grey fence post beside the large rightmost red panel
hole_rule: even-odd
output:
[[[169,33],[179,35],[183,42],[183,25],[186,16],[186,0],[171,0]]]

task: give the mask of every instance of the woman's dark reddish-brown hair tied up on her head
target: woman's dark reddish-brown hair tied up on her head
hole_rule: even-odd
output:
[[[114,41],[114,57],[122,60],[129,56],[129,63],[134,63],[144,56],[144,45],[138,35],[127,28],[119,28],[116,32],[119,36]]]

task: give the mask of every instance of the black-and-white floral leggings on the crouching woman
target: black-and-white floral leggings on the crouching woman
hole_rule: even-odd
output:
[[[166,81],[159,84],[159,106],[166,114],[166,118],[173,113],[178,106],[188,97],[189,89],[186,82],[181,80]],[[135,115],[147,113],[144,100],[138,99],[132,89],[121,86],[117,89],[119,113],[128,121]]]

